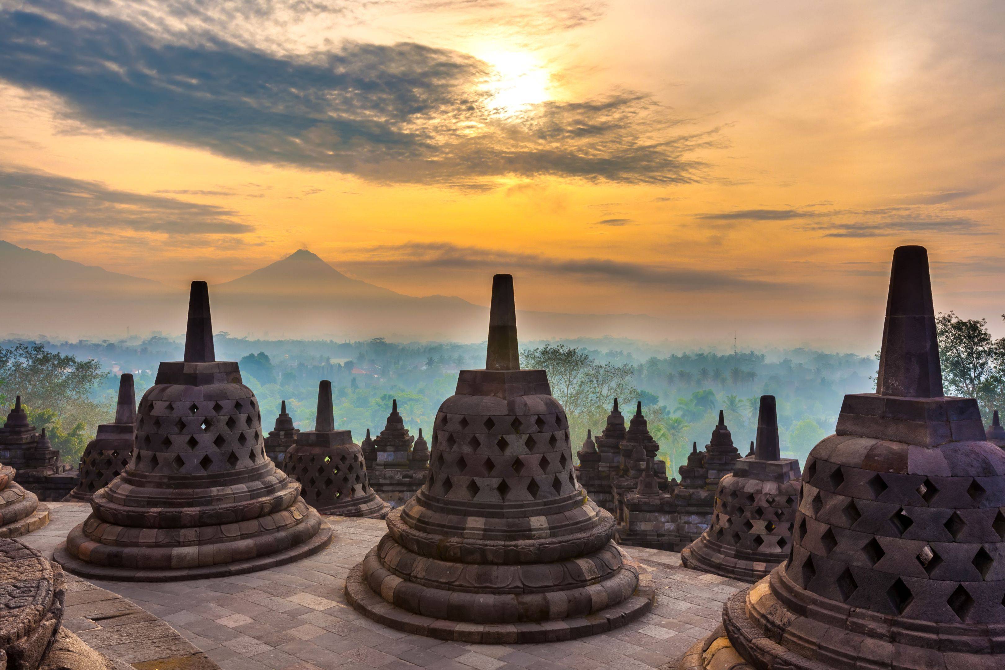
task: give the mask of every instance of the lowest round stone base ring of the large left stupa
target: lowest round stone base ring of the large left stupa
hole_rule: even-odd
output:
[[[77,526],[74,532],[80,532],[81,526]],[[153,568],[143,569],[138,567],[125,567],[113,565],[96,565],[87,563],[72,556],[66,549],[66,542],[61,542],[52,552],[52,560],[59,563],[64,569],[73,574],[85,578],[112,579],[116,581],[182,581],[184,579],[204,579],[208,577],[233,576],[235,574],[245,574],[257,570],[268,569],[291,563],[294,560],[314,555],[332,543],[332,528],[322,520],[321,528],[308,540],[289,547],[283,551],[277,551],[263,556],[254,556],[233,562],[221,562],[215,564],[195,565],[177,568]],[[213,546],[201,545],[200,557],[205,555],[206,561],[213,558]],[[222,545],[220,545],[222,547]]]

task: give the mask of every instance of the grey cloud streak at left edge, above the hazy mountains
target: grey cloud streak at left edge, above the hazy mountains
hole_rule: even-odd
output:
[[[54,223],[181,235],[236,234],[236,212],[95,182],[0,166],[0,226]]]

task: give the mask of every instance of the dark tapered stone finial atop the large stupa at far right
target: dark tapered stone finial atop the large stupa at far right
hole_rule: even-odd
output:
[[[929,253],[924,246],[893,249],[876,392],[897,397],[944,394]]]

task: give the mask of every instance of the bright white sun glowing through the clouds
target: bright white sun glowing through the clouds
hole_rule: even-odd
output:
[[[530,107],[551,100],[551,73],[533,54],[493,51],[481,57],[491,66],[484,87],[490,94],[488,107],[493,113],[519,116]]]

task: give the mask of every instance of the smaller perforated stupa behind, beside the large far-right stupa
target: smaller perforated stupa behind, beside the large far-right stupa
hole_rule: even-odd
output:
[[[757,581],[785,560],[799,501],[799,461],[783,459],[774,395],[761,396],[754,456],[719,482],[712,525],[680,552],[703,572]]]

